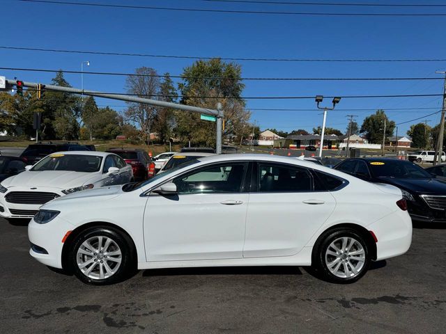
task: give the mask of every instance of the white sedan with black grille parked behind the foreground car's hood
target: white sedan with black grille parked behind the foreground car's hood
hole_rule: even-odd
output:
[[[56,152],[1,182],[0,216],[33,218],[41,205],[54,198],[130,181],[133,181],[132,167],[116,154]]]

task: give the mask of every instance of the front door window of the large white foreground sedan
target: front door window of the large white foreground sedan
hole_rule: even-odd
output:
[[[246,163],[226,163],[201,168],[174,179],[178,194],[239,193],[247,170]]]

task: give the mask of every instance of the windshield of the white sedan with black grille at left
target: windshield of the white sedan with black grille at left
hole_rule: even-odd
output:
[[[93,173],[100,170],[102,157],[82,154],[51,154],[40,160],[31,170],[69,170],[72,172]]]

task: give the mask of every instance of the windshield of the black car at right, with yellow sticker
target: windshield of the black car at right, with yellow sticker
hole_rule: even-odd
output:
[[[431,175],[426,170],[409,161],[368,161],[368,164],[374,177],[431,178]]]

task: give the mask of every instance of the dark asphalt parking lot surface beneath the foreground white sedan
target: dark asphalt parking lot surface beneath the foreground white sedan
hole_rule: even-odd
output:
[[[445,333],[445,239],[446,226],[415,228],[406,255],[353,285],[300,267],[231,267],[93,287],[33,260],[26,224],[1,219],[0,333]]]

